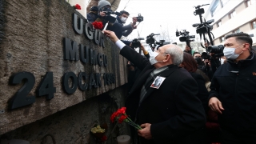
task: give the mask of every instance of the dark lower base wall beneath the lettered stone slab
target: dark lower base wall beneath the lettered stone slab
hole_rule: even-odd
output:
[[[90,98],[49,117],[2,134],[2,139],[22,139],[30,144],[54,144],[50,137],[52,136],[57,144],[95,144],[96,141],[90,134],[90,128],[94,124],[106,122],[108,126],[106,142],[115,144],[118,135],[130,135],[126,124],[118,124],[113,130],[115,123],[110,122],[110,115],[118,107],[124,105],[123,95],[126,93],[125,86],[110,90],[106,94]]]

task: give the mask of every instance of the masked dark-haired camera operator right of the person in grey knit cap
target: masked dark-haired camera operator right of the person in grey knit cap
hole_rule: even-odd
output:
[[[130,23],[129,25],[123,26],[126,23],[127,18],[129,17],[129,13],[126,10],[120,11],[119,16],[117,16],[118,22],[122,25],[122,35],[127,37],[134,29],[137,28],[136,22],[137,18],[133,18],[133,22]]]

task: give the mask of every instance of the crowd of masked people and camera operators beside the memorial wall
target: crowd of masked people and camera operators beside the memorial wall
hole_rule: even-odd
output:
[[[99,1],[88,21],[106,25],[110,8],[110,2]],[[152,53],[141,45],[142,55],[120,40],[137,28],[136,18],[124,26],[130,14],[120,13],[102,32],[129,61],[126,114],[142,127],[131,127],[134,144],[256,143],[256,58],[250,35],[226,35],[218,58],[202,58],[190,46],[183,51],[175,44]]]

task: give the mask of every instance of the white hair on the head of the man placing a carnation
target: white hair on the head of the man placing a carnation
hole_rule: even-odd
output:
[[[177,45],[170,45],[166,49],[166,53],[170,54],[171,60],[174,65],[180,65],[183,61],[183,51],[180,46]]]

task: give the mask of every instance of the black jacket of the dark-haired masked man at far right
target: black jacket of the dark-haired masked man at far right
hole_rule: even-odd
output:
[[[253,53],[238,63],[226,62],[216,70],[210,98],[217,97],[225,110],[220,126],[236,134],[256,134],[256,58]]]

